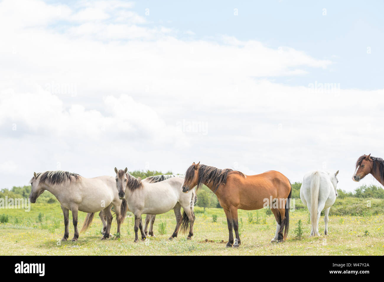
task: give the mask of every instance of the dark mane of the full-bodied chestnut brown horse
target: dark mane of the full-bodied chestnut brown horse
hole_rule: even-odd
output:
[[[214,189],[215,193],[220,185],[225,185],[227,183],[228,172],[237,172],[245,177],[244,173],[237,170],[232,170],[230,168],[225,168],[222,170],[220,168],[210,167],[208,165],[199,165],[199,179],[197,180],[197,189],[199,189],[204,183],[212,183],[212,188]],[[193,178],[194,174],[195,165],[191,165],[187,169],[187,172],[185,172],[185,181]]]

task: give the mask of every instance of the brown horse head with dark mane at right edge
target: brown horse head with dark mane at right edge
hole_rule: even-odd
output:
[[[352,176],[352,180],[359,182],[369,173],[371,173],[381,185],[384,185],[384,160],[382,158],[371,157],[371,154],[360,156],[356,161],[356,170]]]

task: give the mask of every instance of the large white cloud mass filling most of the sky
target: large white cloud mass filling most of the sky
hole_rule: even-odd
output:
[[[225,35],[181,40],[132,7],[0,3],[0,144],[10,148],[1,162],[23,168],[16,181],[0,172],[2,186],[57,166],[85,176],[148,164],[183,173],[201,161],[238,163],[245,173],[281,170],[293,181],[325,165],[340,170],[339,188],[351,190],[359,155],[383,155],[383,89],[278,84],[278,76],[332,61]],[[186,132],[182,120],[202,122],[207,132]]]

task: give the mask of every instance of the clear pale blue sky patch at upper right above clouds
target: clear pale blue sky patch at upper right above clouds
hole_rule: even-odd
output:
[[[166,3],[166,4],[164,4]],[[331,59],[330,69],[308,69],[303,77],[276,78],[293,85],[337,82],[343,88],[383,87],[384,2],[372,1],[140,1],[134,10],[149,20],[193,38],[214,35],[262,41],[266,46],[290,46],[319,59]],[[234,16],[234,8],[238,16]],[[326,16],[323,15],[326,8]],[[371,54],[367,54],[371,47]]]

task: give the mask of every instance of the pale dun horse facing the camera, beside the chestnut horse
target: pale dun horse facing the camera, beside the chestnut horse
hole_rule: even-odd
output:
[[[139,241],[137,234],[139,229],[141,239],[146,239],[141,221],[142,214],[162,214],[170,209],[174,210],[176,227],[169,239],[177,237],[180,227],[182,233],[185,233],[189,227],[187,239],[191,239],[195,220],[193,210],[196,193],[194,190],[189,195],[181,193],[180,187],[184,176],[178,175],[160,182],[148,183],[127,173],[127,168],[125,170],[115,168],[115,172],[119,197],[127,201],[129,211],[135,216],[134,242]],[[183,214],[180,212],[181,207],[184,209]]]

